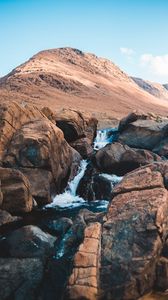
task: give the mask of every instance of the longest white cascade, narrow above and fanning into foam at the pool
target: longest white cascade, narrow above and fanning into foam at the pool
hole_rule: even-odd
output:
[[[63,194],[59,194],[54,197],[53,202],[47,204],[46,207],[60,207],[60,208],[72,208],[80,206],[85,202],[84,199],[76,195],[76,190],[79,184],[79,181],[83,177],[88,162],[86,160],[82,160],[79,168],[78,174],[74,177],[74,179],[69,182],[68,187],[66,188]]]

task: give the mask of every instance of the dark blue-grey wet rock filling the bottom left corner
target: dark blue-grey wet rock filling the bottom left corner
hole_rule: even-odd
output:
[[[39,258],[0,258],[0,299],[36,300],[43,271]]]

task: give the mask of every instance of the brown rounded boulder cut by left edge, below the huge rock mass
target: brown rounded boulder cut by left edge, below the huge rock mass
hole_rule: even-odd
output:
[[[33,201],[28,179],[18,170],[0,167],[3,201],[1,209],[10,213],[25,213],[32,210]]]

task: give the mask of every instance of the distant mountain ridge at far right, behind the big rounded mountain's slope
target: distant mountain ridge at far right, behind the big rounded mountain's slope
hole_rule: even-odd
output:
[[[140,88],[149,94],[160,99],[168,100],[168,84],[150,82],[137,77],[132,77],[132,79],[139,85]]]

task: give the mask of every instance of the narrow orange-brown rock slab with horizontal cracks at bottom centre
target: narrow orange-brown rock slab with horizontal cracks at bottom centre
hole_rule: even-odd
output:
[[[96,300],[101,251],[101,224],[86,227],[84,241],[77,251],[65,299]]]

